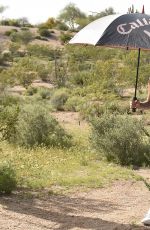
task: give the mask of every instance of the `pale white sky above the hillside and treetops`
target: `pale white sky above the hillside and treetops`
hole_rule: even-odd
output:
[[[0,0],[0,5],[8,7],[1,18],[27,17],[30,23],[38,24],[49,17],[57,18],[69,3],[74,3],[86,14],[101,12],[108,7],[113,7],[117,13],[127,13],[132,4],[139,12],[144,5],[145,13],[150,14],[150,0]]]

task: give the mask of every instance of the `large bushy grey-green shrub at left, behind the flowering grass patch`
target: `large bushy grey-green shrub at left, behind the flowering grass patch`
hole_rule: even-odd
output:
[[[16,124],[16,143],[25,147],[39,145],[68,147],[71,136],[59,125],[46,108],[28,104],[19,113]]]

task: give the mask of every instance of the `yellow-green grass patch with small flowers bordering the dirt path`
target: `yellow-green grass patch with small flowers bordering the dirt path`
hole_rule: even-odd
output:
[[[98,160],[90,151],[36,148],[27,150],[0,143],[0,158],[6,158],[16,172],[18,186],[32,189],[62,186],[104,187],[115,180],[136,180],[127,168]]]

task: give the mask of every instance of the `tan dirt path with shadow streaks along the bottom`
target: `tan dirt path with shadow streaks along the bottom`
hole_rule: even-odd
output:
[[[129,230],[150,229],[140,220],[150,207],[143,182],[117,182],[110,188],[25,198],[0,198],[1,230]]]

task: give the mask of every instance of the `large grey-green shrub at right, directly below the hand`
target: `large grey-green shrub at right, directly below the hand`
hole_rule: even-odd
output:
[[[104,114],[91,121],[91,140],[108,161],[121,165],[150,164],[150,139],[136,118]]]

